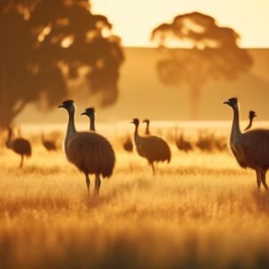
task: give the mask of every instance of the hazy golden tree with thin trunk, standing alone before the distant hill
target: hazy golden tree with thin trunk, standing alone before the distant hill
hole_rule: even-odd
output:
[[[161,24],[152,30],[152,40],[166,52],[157,64],[161,82],[172,87],[187,85],[193,119],[198,116],[201,91],[207,82],[235,79],[252,65],[247,50],[238,46],[239,34],[202,13],[178,15],[173,22]],[[182,46],[189,49],[183,53],[177,49]]]

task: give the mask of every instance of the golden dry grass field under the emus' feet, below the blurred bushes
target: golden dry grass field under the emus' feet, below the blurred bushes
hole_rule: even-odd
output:
[[[115,143],[100,197],[33,137],[25,168],[0,149],[0,267],[268,268],[269,195],[230,152],[179,152],[157,175]],[[94,178],[91,178],[91,191]]]

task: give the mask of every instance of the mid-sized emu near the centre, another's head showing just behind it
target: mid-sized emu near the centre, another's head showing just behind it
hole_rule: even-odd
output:
[[[154,162],[171,160],[171,151],[168,143],[155,135],[140,136],[138,134],[139,119],[134,118],[131,122],[134,124],[134,143],[138,154],[147,159],[152,167],[153,176],[155,175]]]

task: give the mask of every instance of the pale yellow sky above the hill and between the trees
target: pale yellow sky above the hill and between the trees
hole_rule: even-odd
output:
[[[176,15],[198,11],[237,30],[242,47],[269,47],[269,0],[91,0],[92,12],[108,16],[124,46],[148,47],[151,30]]]

